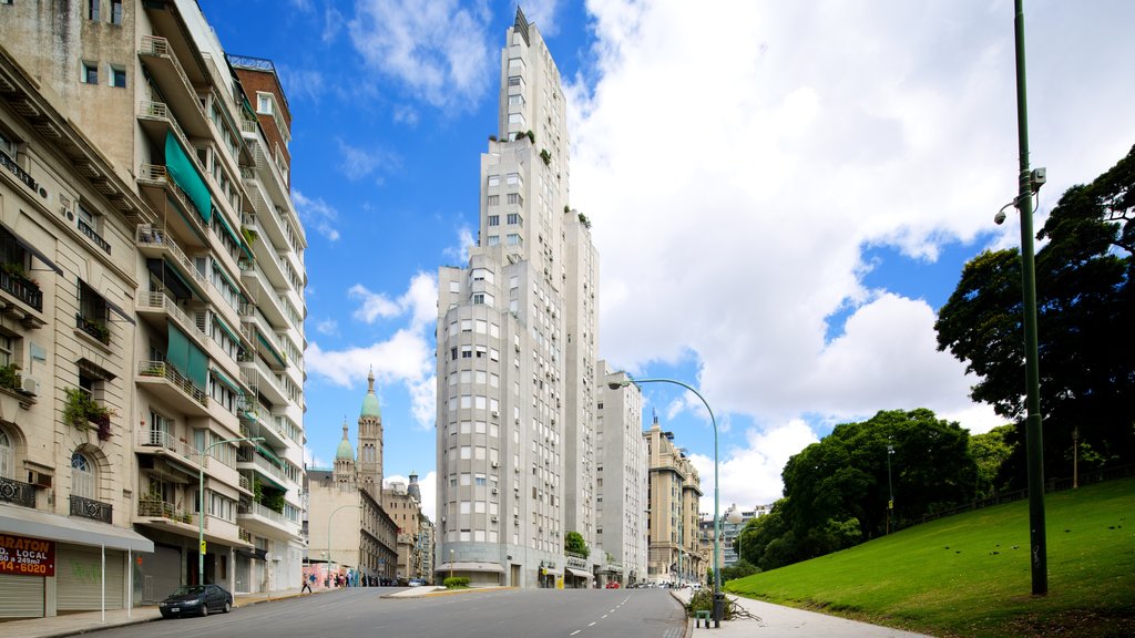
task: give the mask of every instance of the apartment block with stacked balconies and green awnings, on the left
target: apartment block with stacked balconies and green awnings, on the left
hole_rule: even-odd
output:
[[[83,410],[101,403],[121,428],[84,447],[85,465],[70,461],[104,467],[89,472],[94,493],[153,544],[127,574],[127,597],[151,603],[201,580],[295,587],[306,243],[271,62],[227,57],[191,0],[0,11],[7,53],[102,160],[75,170],[108,200],[61,188],[48,202],[119,262],[76,266],[76,329],[102,349],[54,361],[51,420],[78,393]],[[125,201],[140,212],[120,223]],[[53,320],[57,330],[65,322]],[[114,462],[100,461],[108,445],[120,447]],[[115,478],[103,485],[103,475]]]

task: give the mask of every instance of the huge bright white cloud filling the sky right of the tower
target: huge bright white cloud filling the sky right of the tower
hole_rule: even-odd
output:
[[[1108,64],[1118,41],[1135,56],[1115,26],[1135,6],[1039,7],[1034,166],[1059,175],[1056,198],[1135,138],[1135,85]],[[917,406],[975,431],[995,422],[938,352],[934,309],[863,277],[866,247],[933,261],[945,242],[998,232],[992,216],[1016,192],[1011,8],[588,8],[598,70],[569,87],[572,205],[603,255],[604,356],[636,370],[692,355],[714,409],[758,425]],[[1096,28],[1116,40],[1084,47]]]

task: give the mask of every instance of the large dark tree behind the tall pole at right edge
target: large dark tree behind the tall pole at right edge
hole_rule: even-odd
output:
[[[1037,331],[1044,464],[1070,476],[1073,433],[1082,461],[1135,460],[1135,148],[1088,185],[1060,198],[1037,240]],[[970,396],[1016,422],[1002,480],[1024,482],[1024,331],[1020,252],[984,252],[966,265],[939,312],[939,350],[966,362]]]

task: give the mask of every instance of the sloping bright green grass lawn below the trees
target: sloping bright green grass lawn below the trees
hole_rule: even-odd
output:
[[[1045,496],[1049,594],[1032,595],[1028,501],[731,580],[742,596],[933,636],[1135,636],[1135,479]]]

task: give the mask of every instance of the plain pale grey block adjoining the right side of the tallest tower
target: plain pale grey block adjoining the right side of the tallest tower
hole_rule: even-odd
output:
[[[599,361],[604,379],[598,388],[596,418],[596,547],[606,557],[597,585],[633,585],[647,579],[649,540],[647,440],[642,437],[642,393],[625,372]],[[595,554],[595,552],[592,552]]]

